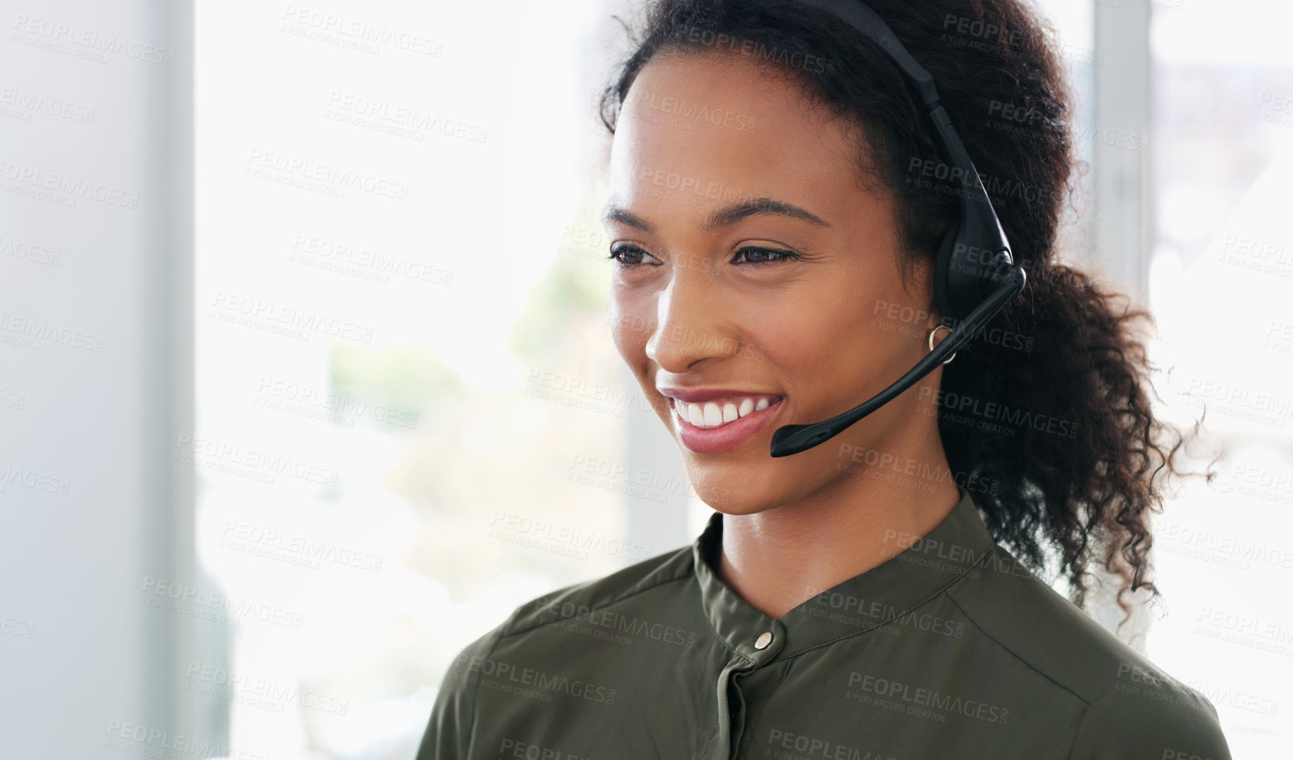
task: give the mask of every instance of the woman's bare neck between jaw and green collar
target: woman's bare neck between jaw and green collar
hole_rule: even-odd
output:
[[[948,470],[935,446],[909,455]],[[875,469],[873,477],[866,477]],[[877,478],[882,468],[857,465],[798,501],[753,514],[724,514],[715,573],[765,615],[781,619],[817,593],[901,553],[939,525],[961,500],[957,486],[940,478],[934,491],[905,478]]]

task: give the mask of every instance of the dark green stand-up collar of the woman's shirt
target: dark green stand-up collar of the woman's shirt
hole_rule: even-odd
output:
[[[696,578],[714,632],[734,653],[762,664],[900,624],[905,613],[981,565],[996,544],[970,491],[958,490],[961,500],[927,534],[891,536],[908,548],[861,575],[820,591],[781,620],[737,596],[714,571],[710,560],[716,561],[723,535],[723,513],[715,512],[692,544]]]

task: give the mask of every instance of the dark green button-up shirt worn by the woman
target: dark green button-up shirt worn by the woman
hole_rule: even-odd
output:
[[[1217,711],[997,545],[965,489],[777,620],[689,547],[531,600],[468,645],[418,760],[1228,760]]]

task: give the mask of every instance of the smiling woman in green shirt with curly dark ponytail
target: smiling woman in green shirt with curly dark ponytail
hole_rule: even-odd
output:
[[[869,5],[932,74],[1024,292],[769,456],[946,335],[962,195],[892,54],[834,9],[656,0],[603,101],[614,341],[715,513],[469,645],[419,760],[1230,757],[1213,706],[1081,609],[1093,561],[1124,609],[1157,593],[1155,476],[1183,438],[1151,416],[1142,314],[1054,262],[1056,56],[1016,0]]]

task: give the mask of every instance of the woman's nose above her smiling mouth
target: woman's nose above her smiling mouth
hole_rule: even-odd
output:
[[[736,355],[741,346],[718,278],[680,269],[657,295],[656,331],[646,340],[646,355],[676,375],[703,359]]]

